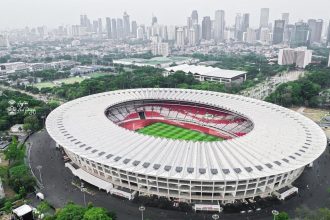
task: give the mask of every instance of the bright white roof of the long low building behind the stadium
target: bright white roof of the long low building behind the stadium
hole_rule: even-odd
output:
[[[219,77],[219,78],[226,78],[232,79],[243,74],[246,74],[245,71],[238,71],[238,70],[225,70],[220,68],[215,68],[211,66],[200,66],[200,65],[188,65],[182,64],[179,66],[173,66],[166,68],[167,71],[183,71],[185,73],[192,73],[192,74],[199,74],[203,76],[209,77]]]

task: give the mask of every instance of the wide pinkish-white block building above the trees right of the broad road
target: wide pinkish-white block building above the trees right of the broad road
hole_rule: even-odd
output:
[[[284,48],[278,53],[279,65],[295,64],[299,68],[305,68],[312,62],[313,51],[307,50],[306,47],[298,47],[295,49]]]

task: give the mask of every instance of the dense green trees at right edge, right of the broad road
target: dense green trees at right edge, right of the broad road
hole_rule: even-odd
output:
[[[266,101],[286,107],[316,107],[323,104],[319,93],[330,86],[330,69],[310,66],[308,71],[305,77],[280,85]]]

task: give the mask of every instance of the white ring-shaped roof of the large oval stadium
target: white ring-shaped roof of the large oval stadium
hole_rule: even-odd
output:
[[[114,104],[141,99],[216,106],[246,116],[254,128],[229,140],[192,142],[139,134],[105,115]],[[55,109],[46,128],[58,144],[89,160],[187,180],[250,179],[289,172],[314,161],[326,147],[322,129],[297,112],[247,97],[198,90],[135,89],[91,95]]]

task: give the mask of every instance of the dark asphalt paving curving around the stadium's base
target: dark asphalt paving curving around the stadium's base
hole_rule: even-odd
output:
[[[46,199],[56,208],[62,207],[67,201],[71,200],[83,205],[83,194],[78,188],[71,184],[74,179],[69,169],[64,167],[61,154],[56,150],[55,143],[47,132],[42,131],[31,136],[30,164],[33,172],[39,179],[38,165],[42,166],[43,192]],[[308,168],[296,181],[299,187],[299,195],[287,201],[279,202],[263,209],[258,213],[250,214],[220,214],[220,220],[241,220],[253,219],[263,220],[272,219],[271,210],[287,211],[291,215],[294,210],[303,205],[312,209],[330,205],[330,194],[326,189],[330,187],[330,149],[315,162],[313,168]],[[307,189],[307,185],[308,188]],[[108,210],[114,210],[119,219],[135,220],[140,219],[138,205],[130,201],[113,197],[105,192],[97,191],[93,196],[86,194],[87,202],[93,202],[97,206],[102,206]],[[212,219],[210,214],[194,214],[177,211],[167,211],[162,209],[147,207],[145,219],[149,220],[183,220],[183,219]]]

